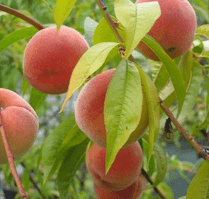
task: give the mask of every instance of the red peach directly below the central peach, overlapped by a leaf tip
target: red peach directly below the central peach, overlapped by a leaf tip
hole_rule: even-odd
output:
[[[86,151],[86,167],[94,182],[104,189],[119,191],[130,186],[141,173],[142,149],[138,142],[120,149],[105,174],[106,149],[94,144]]]

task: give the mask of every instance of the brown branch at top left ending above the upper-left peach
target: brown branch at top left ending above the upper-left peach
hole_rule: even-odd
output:
[[[4,6],[2,4],[0,4],[0,10],[4,11],[4,12],[7,12],[11,15],[14,15],[20,19],[23,19],[24,21],[28,22],[29,24],[33,25],[34,27],[36,27],[38,30],[41,30],[41,29],[44,29],[45,27],[40,24],[39,22],[37,22],[36,20],[24,15],[23,13],[15,10],[15,9],[12,9],[10,7],[7,7],[7,6]]]

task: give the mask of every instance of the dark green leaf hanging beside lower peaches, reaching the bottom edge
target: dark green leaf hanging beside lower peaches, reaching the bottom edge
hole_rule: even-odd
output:
[[[81,144],[72,147],[68,151],[57,176],[57,185],[60,193],[60,198],[67,198],[68,188],[74,178],[79,166],[85,160],[85,151],[89,139],[85,139]]]

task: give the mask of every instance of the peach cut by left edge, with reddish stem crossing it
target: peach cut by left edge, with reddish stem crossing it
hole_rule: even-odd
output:
[[[18,94],[0,88],[0,107],[5,134],[15,159],[23,156],[33,145],[38,131],[38,117],[33,108]],[[7,163],[0,133],[0,164]]]

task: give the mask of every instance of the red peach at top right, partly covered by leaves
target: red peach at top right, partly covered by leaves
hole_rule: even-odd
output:
[[[136,3],[156,0],[137,0]],[[168,55],[174,59],[186,53],[195,36],[197,19],[191,4],[187,0],[157,0],[161,16],[149,31],[149,35],[159,42]],[[153,60],[159,60],[143,42],[138,50]]]

